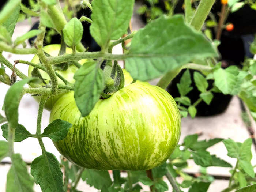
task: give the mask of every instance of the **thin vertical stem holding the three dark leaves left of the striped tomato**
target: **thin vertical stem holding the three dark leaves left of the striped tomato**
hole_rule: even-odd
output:
[[[38,108],[38,115],[37,115],[37,135],[41,135],[41,123],[42,123],[42,114],[43,114],[43,110],[44,110],[44,106],[47,100],[47,96],[41,96],[40,98],[40,103],[39,103],[39,108]],[[41,137],[38,137],[38,142],[40,144],[40,147],[42,149],[42,153],[44,154],[46,152],[45,150],[45,146],[44,143],[42,141]]]

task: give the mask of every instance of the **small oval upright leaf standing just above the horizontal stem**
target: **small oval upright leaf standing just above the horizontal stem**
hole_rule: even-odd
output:
[[[75,47],[83,37],[83,25],[77,18],[72,18],[63,29],[65,43],[70,47]]]

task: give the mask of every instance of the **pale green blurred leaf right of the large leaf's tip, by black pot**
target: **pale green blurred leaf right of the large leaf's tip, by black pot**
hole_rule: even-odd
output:
[[[213,72],[214,83],[224,94],[232,93],[237,83],[238,69],[230,66],[226,69],[219,68]]]

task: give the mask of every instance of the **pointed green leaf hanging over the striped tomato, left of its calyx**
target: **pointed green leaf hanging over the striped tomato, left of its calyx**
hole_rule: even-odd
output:
[[[82,116],[87,116],[104,90],[103,71],[94,61],[84,63],[74,75],[75,101]]]

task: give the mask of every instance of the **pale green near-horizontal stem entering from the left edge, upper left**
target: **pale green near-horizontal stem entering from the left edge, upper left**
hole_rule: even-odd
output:
[[[4,42],[0,42],[0,50],[14,53],[14,54],[36,54],[37,49],[36,48],[13,48],[10,45],[7,45]]]

